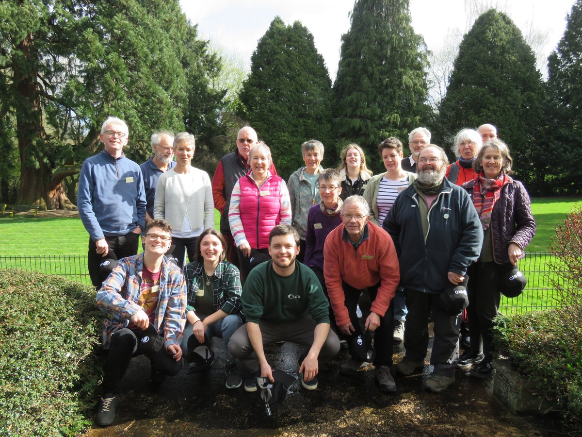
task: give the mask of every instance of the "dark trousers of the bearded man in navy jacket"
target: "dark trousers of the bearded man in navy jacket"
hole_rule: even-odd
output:
[[[404,348],[406,359],[423,362],[428,348],[428,317],[432,311],[434,341],[432,343],[431,364],[434,374],[452,376],[459,361],[460,313],[449,316],[441,311],[435,302],[438,294],[428,294],[414,290],[406,292],[408,314],[404,322]]]

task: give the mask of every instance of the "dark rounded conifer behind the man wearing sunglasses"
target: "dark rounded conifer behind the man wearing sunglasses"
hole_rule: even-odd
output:
[[[251,73],[240,93],[239,115],[271,146],[283,178],[303,165],[301,144],[329,143],[331,79],[313,35],[300,22],[275,17],[251,57]]]

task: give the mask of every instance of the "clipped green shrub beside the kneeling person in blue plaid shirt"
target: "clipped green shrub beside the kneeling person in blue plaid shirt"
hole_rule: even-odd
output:
[[[94,288],[0,270],[0,302],[0,435],[86,429],[101,375]]]

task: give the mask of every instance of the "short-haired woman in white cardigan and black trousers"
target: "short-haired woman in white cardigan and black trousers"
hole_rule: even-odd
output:
[[[178,265],[196,256],[196,239],[205,229],[214,227],[214,200],[208,173],[190,165],[194,157],[194,135],[179,133],[174,138],[176,166],[158,179],[155,189],[154,218],[164,218],[173,228],[172,255]]]

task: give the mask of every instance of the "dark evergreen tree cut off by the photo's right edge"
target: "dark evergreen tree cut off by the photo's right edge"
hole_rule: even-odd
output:
[[[548,58],[546,141],[552,150],[555,192],[574,194],[582,184],[582,0],[567,17],[566,31]]]

